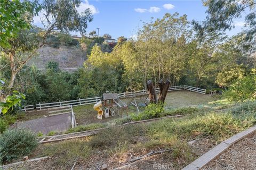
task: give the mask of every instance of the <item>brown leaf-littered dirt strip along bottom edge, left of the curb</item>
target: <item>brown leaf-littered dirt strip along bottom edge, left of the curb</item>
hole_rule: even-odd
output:
[[[138,139],[142,140],[142,139]],[[113,155],[108,156],[108,153],[97,151],[97,154],[92,155],[88,159],[78,159],[74,160],[76,165],[74,169],[100,169],[103,164],[107,164],[108,169],[137,169],[137,170],[153,170],[153,169],[182,169],[187,164],[192,162],[197,157],[203,155],[205,152],[209,151],[211,148],[215,146],[215,142],[211,141],[207,138],[195,140],[190,142],[190,150],[191,150],[191,157],[190,160],[182,160],[182,159],[173,159],[171,154],[172,151],[166,151],[162,154],[152,155],[146,158],[143,158],[137,162],[124,166],[125,163],[129,162],[131,158],[135,158],[141,155],[145,155],[149,150],[142,150],[139,153],[134,152],[125,152],[123,155]],[[131,146],[132,147],[132,146]],[[161,150],[160,148],[156,148],[155,151]],[[62,167],[58,167],[55,165],[55,160],[58,157],[49,157],[47,159],[42,159],[37,162],[27,162],[20,165],[14,165],[9,168],[4,169],[63,169]],[[72,158],[70,158],[72,159]],[[72,165],[66,166],[66,169],[71,169]],[[157,168],[156,168],[157,167]]]

